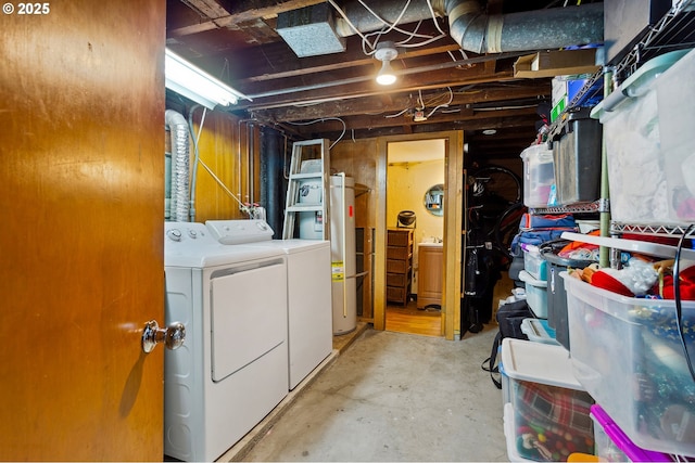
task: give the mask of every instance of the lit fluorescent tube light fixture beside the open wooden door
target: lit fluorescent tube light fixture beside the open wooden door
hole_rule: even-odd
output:
[[[164,56],[164,75],[167,89],[174,90],[208,110],[214,110],[217,105],[237,104],[240,98],[251,100],[193,66],[169,49],[166,49]]]

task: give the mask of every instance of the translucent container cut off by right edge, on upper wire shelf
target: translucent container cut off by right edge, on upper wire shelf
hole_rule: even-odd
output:
[[[681,57],[656,81],[661,153],[669,218],[695,221],[695,51]]]

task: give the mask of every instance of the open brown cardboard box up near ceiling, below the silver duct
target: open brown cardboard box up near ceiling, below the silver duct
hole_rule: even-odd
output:
[[[555,77],[568,74],[595,74],[596,49],[542,51],[521,56],[514,63],[514,77]]]

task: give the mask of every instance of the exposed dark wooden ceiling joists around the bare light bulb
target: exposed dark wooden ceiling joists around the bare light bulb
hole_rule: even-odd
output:
[[[338,5],[348,2],[334,1]],[[394,1],[364,0],[376,10]],[[599,1],[587,0],[582,4],[596,2]],[[471,153],[509,157],[518,156],[538,136],[536,125],[542,120],[536,106],[551,104],[551,79],[515,78],[514,62],[523,52],[463,51],[447,35],[446,18],[438,18],[437,24],[432,18],[399,24],[399,29],[409,34],[417,30],[419,36],[408,38],[394,29],[379,40],[421,43],[399,48],[392,62],[397,82],[378,87],[374,77],[381,63],[365,53],[370,49],[358,35],[346,37],[344,52],[298,57],[275,30],[279,14],[320,3],[325,1],[167,0],[167,47],[252,97],[253,101],[242,100],[227,111],[254,118],[292,138],[336,140],[341,136],[463,130]],[[354,8],[355,2],[351,3]],[[400,4],[396,1],[392,7],[397,10]],[[486,11],[481,10],[483,14],[542,14],[547,8],[563,8],[563,2],[547,0],[481,0],[480,4],[486,7]],[[445,33],[444,37],[424,38],[440,36],[439,29]],[[370,41],[376,38],[369,36]],[[529,50],[527,54],[535,51],[540,50]],[[416,123],[416,108],[429,117],[418,117]],[[320,124],[296,125],[321,119],[325,121]],[[497,134],[478,134],[488,128],[497,129]]]

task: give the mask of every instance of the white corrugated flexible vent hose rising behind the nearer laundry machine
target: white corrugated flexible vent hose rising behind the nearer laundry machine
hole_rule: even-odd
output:
[[[170,218],[187,222],[189,207],[190,141],[186,118],[173,110],[166,110],[164,120],[172,133],[172,202]]]

